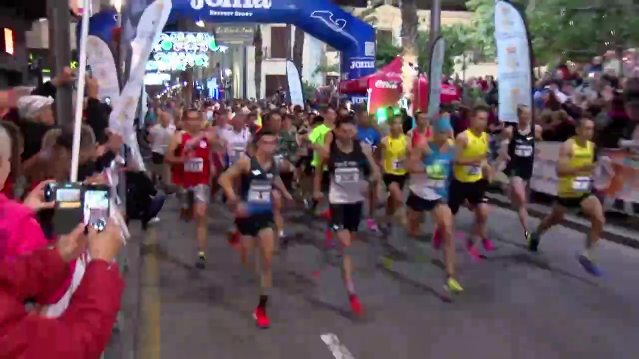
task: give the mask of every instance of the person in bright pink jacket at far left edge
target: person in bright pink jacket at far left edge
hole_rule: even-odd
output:
[[[19,134],[11,131],[8,125],[0,123],[0,191],[4,187],[11,172],[18,172],[20,165]],[[22,204],[8,199],[0,193],[0,261],[15,261],[18,256],[30,254],[38,248],[47,247],[49,241],[45,238],[35,213],[43,208],[52,208],[53,202],[42,202],[45,185],[50,181],[40,183]],[[72,270],[73,265],[72,263]],[[73,273],[73,271],[72,271]],[[36,303],[38,306],[58,303],[71,283],[72,277],[65,280],[63,286],[49,294],[45,301]]]

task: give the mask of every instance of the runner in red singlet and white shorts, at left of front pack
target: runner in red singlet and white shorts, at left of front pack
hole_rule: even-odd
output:
[[[212,171],[212,148],[217,144],[215,132],[202,129],[202,114],[189,109],[183,119],[184,132],[171,139],[166,160],[181,165],[181,207],[192,210],[196,220],[197,262],[196,267],[206,266],[206,207],[210,199]],[[176,156],[178,153],[178,156]]]

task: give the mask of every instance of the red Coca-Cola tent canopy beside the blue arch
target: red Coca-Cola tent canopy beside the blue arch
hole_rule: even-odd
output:
[[[401,91],[401,57],[395,57],[386,66],[380,68],[376,73],[371,75],[360,77],[359,79],[346,80],[339,82],[339,92],[348,94],[361,94],[366,95],[368,89],[373,88],[397,88],[397,91]],[[413,95],[417,98],[418,94],[418,80],[415,79],[415,86],[413,86]],[[426,108],[428,98],[428,79],[425,74],[420,75],[419,78],[419,98],[421,101],[420,108]]]

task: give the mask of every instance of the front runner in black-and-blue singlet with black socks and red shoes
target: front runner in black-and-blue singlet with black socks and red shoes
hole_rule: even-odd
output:
[[[256,136],[255,155],[243,157],[233,163],[220,176],[220,185],[231,206],[235,206],[235,224],[242,234],[241,259],[249,266],[247,241],[255,240],[261,252],[259,268],[259,302],[253,316],[260,328],[268,328],[266,301],[272,286],[271,262],[275,248],[275,235],[270,225],[273,222],[273,197],[281,194],[293,200],[279,178],[277,164],[273,160],[277,137],[269,130],[262,130]],[[240,181],[240,194],[236,194],[233,184]],[[279,191],[273,191],[273,187]],[[250,267],[250,266],[249,266]]]

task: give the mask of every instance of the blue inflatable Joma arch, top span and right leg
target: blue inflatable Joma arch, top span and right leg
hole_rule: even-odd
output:
[[[373,26],[328,0],[173,0],[171,17],[293,24],[341,52],[342,80],[375,72]]]

